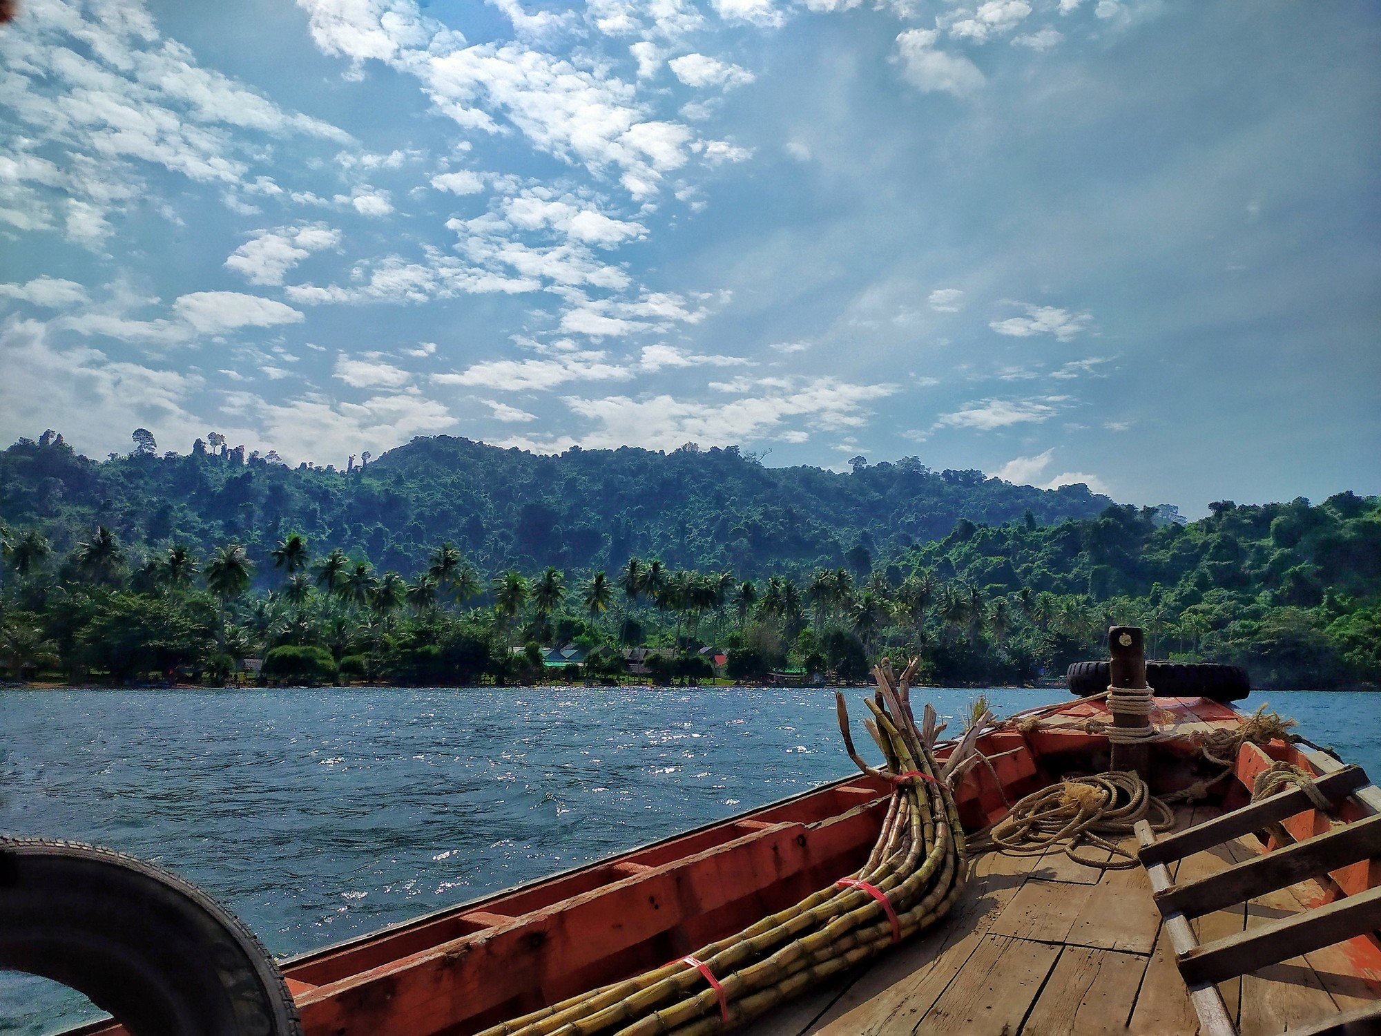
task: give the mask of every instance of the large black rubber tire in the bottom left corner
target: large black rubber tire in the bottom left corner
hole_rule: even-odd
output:
[[[131,1036],[301,1036],[283,972],[196,885],[120,852],[0,838],[0,968],[84,993]]]

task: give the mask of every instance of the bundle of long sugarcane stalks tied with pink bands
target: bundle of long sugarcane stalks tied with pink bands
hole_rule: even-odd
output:
[[[747,1022],[812,984],[859,964],[943,917],[964,883],[964,833],[952,782],[983,727],[985,713],[942,768],[935,739],[943,729],[927,704],[911,714],[916,662],[898,678],[884,659],[877,693],[866,704],[869,733],[885,768],[853,747],[844,696],[836,695],[849,758],[892,783],[882,832],[867,863],[795,906],[713,942],[681,960],[486,1029],[481,1036],[703,1036]]]

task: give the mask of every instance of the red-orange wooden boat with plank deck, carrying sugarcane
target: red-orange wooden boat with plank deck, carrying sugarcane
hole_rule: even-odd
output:
[[[1142,670],[1143,671],[1143,670]],[[1114,684],[1119,682],[1114,667]],[[1123,671],[1123,687],[1138,685]],[[1172,832],[1119,847],[971,854],[949,916],[744,1032],[1381,1032],[1381,790],[1254,718],[1156,698],[1139,756],[1156,794],[1193,792]],[[1135,717],[1132,717],[1135,718]],[[965,832],[1062,779],[1109,769],[1135,725],[1108,700],[1027,710],[978,738],[954,787]],[[1239,736],[1235,736],[1239,735]],[[1233,749],[1224,772],[1204,757]],[[940,743],[938,758],[954,745]],[[1253,801],[1282,764],[1301,779]],[[1304,779],[1306,775],[1309,779]],[[1197,785],[1196,785],[1197,782]],[[464,1036],[675,961],[855,872],[892,783],[860,775],[282,964],[307,1036]],[[1099,855],[1101,854],[1101,855]],[[88,1025],[79,1033],[119,1032]]]

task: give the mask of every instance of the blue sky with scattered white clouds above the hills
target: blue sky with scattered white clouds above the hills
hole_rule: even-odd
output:
[[[1381,492],[1381,8],[21,0],[0,438]]]

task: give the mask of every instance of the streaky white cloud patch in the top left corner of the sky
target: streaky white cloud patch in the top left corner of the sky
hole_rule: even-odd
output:
[[[250,134],[351,142],[334,126],[199,68],[137,3],[39,8],[0,40],[0,95],[15,120],[0,163],[7,222],[28,210],[30,229],[59,229],[95,249],[112,232],[112,213],[148,199],[148,166],[202,184],[267,189],[272,181],[251,169],[271,152]],[[62,166],[40,159],[43,151],[62,152]]]

